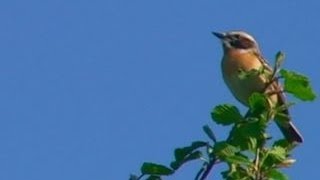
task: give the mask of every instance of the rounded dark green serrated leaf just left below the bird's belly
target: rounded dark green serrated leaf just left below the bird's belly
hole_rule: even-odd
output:
[[[217,124],[230,125],[243,119],[237,107],[229,104],[218,105],[211,112],[212,119]]]

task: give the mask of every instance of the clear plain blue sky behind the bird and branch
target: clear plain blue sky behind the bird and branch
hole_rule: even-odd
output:
[[[319,5],[1,1],[0,179],[128,179],[142,162],[169,164],[174,148],[205,139],[204,124],[224,138],[211,109],[241,105],[222,81],[213,30],[252,33],[271,62],[283,50],[285,68],[310,76],[319,94]],[[291,109],[305,138],[291,179],[318,177],[319,106]],[[193,179],[199,165],[167,179]]]

